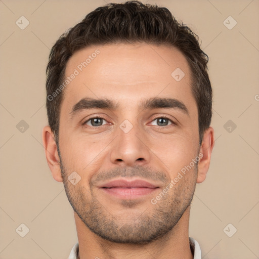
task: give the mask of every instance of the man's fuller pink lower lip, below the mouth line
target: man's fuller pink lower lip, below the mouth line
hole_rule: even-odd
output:
[[[136,199],[142,197],[144,195],[148,195],[153,193],[158,188],[147,188],[147,187],[140,187],[140,188],[120,188],[120,187],[113,187],[113,188],[101,188],[109,195],[122,198],[122,199]]]

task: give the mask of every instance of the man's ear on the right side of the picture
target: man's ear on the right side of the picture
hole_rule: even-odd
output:
[[[201,159],[198,163],[197,184],[202,183],[206,179],[213,147],[214,130],[212,127],[209,127],[203,134],[203,140],[200,147],[199,157],[201,157]]]

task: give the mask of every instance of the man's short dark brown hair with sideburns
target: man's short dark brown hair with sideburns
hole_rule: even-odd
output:
[[[51,49],[47,66],[47,112],[49,125],[58,142],[60,107],[63,91],[57,91],[65,76],[69,58],[75,51],[93,45],[146,42],[176,47],[191,68],[192,93],[198,106],[199,141],[209,127],[212,115],[212,89],[207,73],[208,56],[200,49],[198,36],[178,22],[170,11],[157,5],[130,1],[98,7],[68,32],[62,34]]]

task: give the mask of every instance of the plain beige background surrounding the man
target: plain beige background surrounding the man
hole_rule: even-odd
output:
[[[0,1],[1,259],[67,258],[77,242],[72,207],[42,147],[45,69],[57,38],[105,2],[112,1]],[[146,2],[189,25],[210,58],[217,140],[193,199],[190,236],[204,259],[259,258],[259,1]],[[24,30],[16,25],[21,16],[29,21]],[[237,21],[231,30],[223,23],[229,16]],[[16,127],[21,120],[29,125],[23,133]],[[230,133],[228,120],[236,124]],[[25,237],[16,232],[22,223]],[[229,223],[237,229],[232,237],[223,231]]]

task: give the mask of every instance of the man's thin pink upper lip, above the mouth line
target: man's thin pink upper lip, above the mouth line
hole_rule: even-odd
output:
[[[127,181],[124,179],[119,180],[113,180],[106,184],[103,184],[100,186],[100,188],[113,188],[113,187],[124,187],[124,188],[131,188],[131,187],[146,187],[146,188],[158,188],[158,186],[155,186],[147,181],[144,180],[133,180],[133,181]]]

